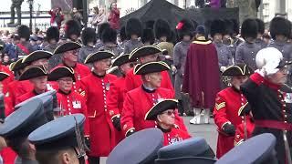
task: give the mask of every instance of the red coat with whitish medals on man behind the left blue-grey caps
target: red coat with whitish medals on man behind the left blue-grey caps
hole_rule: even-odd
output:
[[[77,92],[70,92],[68,94],[58,90],[57,91],[57,104],[58,107],[64,110],[64,116],[75,113],[81,113],[85,116],[84,135],[89,137],[89,118],[88,109],[84,97]]]

